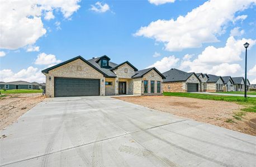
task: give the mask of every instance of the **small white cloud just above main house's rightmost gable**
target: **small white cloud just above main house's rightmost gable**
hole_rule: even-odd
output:
[[[162,60],[155,62],[153,65],[148,66],[148,68],[155,67],[160,72],[165,72],[170,70],[173,66],[177,66],[176,63],[179,61],[179,58],[175,56],[164,57]]]

